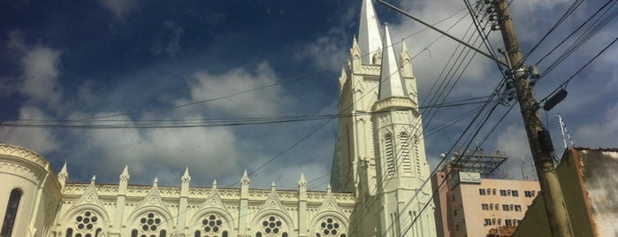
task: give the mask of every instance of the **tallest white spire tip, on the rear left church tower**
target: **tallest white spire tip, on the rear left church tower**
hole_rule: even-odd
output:
[[[378,17],[371,0],[362,0],[361,22],[358,27],[358,44],[362,52],[362,64],[371,64],[373,54],[376,53],[382,44]]]

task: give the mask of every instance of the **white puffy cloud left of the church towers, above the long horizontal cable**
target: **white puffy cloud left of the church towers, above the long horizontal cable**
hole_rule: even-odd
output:
[[[262,63],[253,72],[236,68],[221,74],[195,73],[188,81],[191,89],[190,101],[202,101],[225,97],[207,103],[213,111],[232,115],[268,116],[277,114],[287,105],[295,103],[280,85],[261,88],[277,82],[277,75],[271,66]],[[237,96],[233,96],[237,95]],[[186,103],[186,101],[179,101]]]

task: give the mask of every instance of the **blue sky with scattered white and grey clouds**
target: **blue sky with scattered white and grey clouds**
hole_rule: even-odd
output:
[[[618,147],[618,48],[609,46],[618,37],[618,7],[609,2],[607,12],[596,15],[606,1],[576,4],[553,30],[573,1],[510,5],[523,53],[530,53],[525,63],[543,74],[534,88],[537,100],[556,88],[568,91],[553,110],[540,111],[558,157],[564,150],[559,113],[576,146]],[[389,3],[457,38],[477,35],[463,1]],[[426,108],[437,98],[456,103],[489,96],[500,84],[492,60],[470,53],[462,59],[467,66],[455,67],[460,44],[374,5],[395,49],[401,39],[407,44]],[[156,178],[178,186],[188,168],[192,186],[217,180],[217,187],[239,187],[247,170],[251,187],[274,182],[294,189],[302,172],[309,189],[325,190],[339,131],[336,119],[317,116],[337,113],[338,78],[358,34],[360,9],[361,1],[350,0],[0,0],[0,142],[34,150],[56,172],[66,163],[70,181],[96,175],[97,182],[117,183],[127,165],[134,184]],[[603,19],[607,24],[581,36]],[[577,37],[582,43],[562,59]],[[488,42],[504,48],[499,31]],[[479,104],[422,109],[431,169],[439,154],[470,143],[506,151],[508,178],[534,176],[519,107],[508,110],[513,104],[476,120],[473,127],[483,125],[477,136],[465,129],[475,120],[463,115]],[[287,117],[301,119],[272,122]],[[53,126],[15,126],[34,123]],[[179,127],[187,123],[208,126]]]

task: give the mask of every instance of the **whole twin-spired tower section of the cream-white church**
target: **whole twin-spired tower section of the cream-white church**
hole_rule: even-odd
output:
[[[355,194],[350,236],[435,236],[433,209],[421,212],[431,186],[423,186],[429,165],[412,57],[405,43],[395,54],[370,0],[362,1],[359,26],[339,80],[332,191]]]

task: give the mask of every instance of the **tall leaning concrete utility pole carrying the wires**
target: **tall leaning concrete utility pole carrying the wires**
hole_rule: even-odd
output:
[[[505,0],[492,0],[493,11],[497,14],[497,21],[502,32],[502,40],[507,48],[509,71],[513,76],[513,83],[519,105],[522,109],[523,123],[528,134],[528,142],[534,164],[537,168],[538,182],[543,192],[546,213],[552,236],[573,236],[568,219],[564,195],[556,170],[553,167],[553,145],[549,132],[538,115],[538,103],[534,98],[534,91],[530,88],[529,70],[523,65],[522,50],[519,48],[513,20],[508,13]]]

